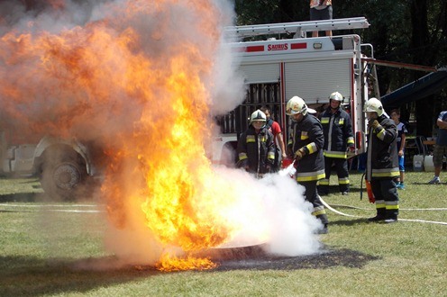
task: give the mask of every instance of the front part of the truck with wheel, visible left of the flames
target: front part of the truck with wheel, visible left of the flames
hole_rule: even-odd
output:
[[[93,180],[89,150],[76,139],[22,139],[14,127],[0,130],[0,157],[0,175],[39,176],[43,190],[53,200],[76,199],[85,189],[83,185]]]

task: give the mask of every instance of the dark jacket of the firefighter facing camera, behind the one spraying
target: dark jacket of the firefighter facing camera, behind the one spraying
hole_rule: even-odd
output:
[[[351,117],[348,112],[338,108],[331,112],[328,107],[321,116],[324,131],[324,157],[346,158],[347,148],[354,147]]]

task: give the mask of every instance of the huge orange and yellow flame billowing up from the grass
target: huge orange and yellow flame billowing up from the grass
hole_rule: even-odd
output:
[[[49,3],[58,12],[66,8],[64,1]],[[30,135],[99,146],[106,164],[102,193],[116,228],[125,229],[141,211],[167,250],[225,243],[241,222],[228,220],[234,192],[215,175],[205,150],[220,8],[206,0],[101,7],[108,13],[94,22],[52,32],[30,21],[28,31],[1,36],[6,121]],[[170,255],[160,257],[160,270],[214,267],[207,259]]]

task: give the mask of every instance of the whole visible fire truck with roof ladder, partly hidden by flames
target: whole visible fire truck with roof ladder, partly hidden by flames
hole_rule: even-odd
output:
[[[342,104],[351,114],[357,153],[363,152],[366,122],[362,106],[368,98],[369,78],[375,76],[375,67],[365,61],[373,55],[372,46],[361,43],[353,33],[306,38],[306,32],[368,27],[364,17],[355,17],[226,28],[225,33],[233,38],[228,46],[240,63],[246,96],[242,104],[218,119],[222,133],[213,142],[213,163],[234,165],[237,139],[247,129],[251,112],[261,105],[269,106],[287,139],[287,100],[299,95],[309,107],[322,110],[335,91],[343,95]],[[290,34],[292,38],[283,39]],[[90,154],[98,149],[77,139],[14,140],[18,134],[0,130],[1,175],[38,175],[46,193],[64,200],[76,198],[77,190],[95,175],[91,160],[96,164],[97,157]]]

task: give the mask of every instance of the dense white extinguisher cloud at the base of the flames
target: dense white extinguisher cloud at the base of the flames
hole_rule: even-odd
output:
[[[306,202],[304,187],[293,178],[277,173],[256,179],[242,170],[224,167],[217,167],[216,172],[232,184],[229,189],[238,190],[231,219],[240,220],[243,226],[223,247],[267,244],[269,253],[286,256],[318,250],[315,233],[322,228],[321,221],[311,215],[313,205]]]

